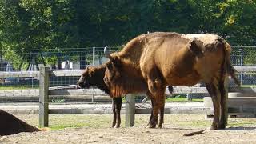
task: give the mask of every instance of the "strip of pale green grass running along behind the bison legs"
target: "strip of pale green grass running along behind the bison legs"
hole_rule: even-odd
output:
[[[38,126],[38,115],[22,114],[18,118],[33,126]],[[50,130],[62,130],[66,128],[109,128],[112,124],[112,114],[50,114]],[[150,114],[136,114],[135,126],[146,126]],[[121,127],[125,127],[125,114],[121,116]],[[228,127],[256,126],[255,118],[229,118]],[[164,126],[203,127],[210,126],[212,119],[205,119],[204,114],[165,114]]]

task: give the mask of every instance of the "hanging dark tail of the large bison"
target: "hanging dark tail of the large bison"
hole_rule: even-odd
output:
[[[240,82],[238,80],[238,78],[235,76],[235,74],[237,73],[237,70],[234,69],[234,67],[231,65],[230,62],[230,53],[231,53],[231,46],[230,44],[228,44],[223,38],[220,38],[221,42],[224,44],[225,46],[225,73],[229,74],[230,77],[232,79],[234,79],[234,82],[238,85],[238,87],[240,87]]]

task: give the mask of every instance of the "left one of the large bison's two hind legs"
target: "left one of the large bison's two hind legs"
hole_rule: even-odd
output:
[[[215,84],[215,85],[214,85]],[[220,92],[218,90],[218,83],[206,83],[206,88],[214,104],[214,121],[210,126],[210,130],[218,129],[218,122],[220,117]]]

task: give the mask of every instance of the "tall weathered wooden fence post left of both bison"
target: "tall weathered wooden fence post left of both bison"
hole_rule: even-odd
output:
[[[49,124],[49,67],[39,69],[39,126],[48,127]]]

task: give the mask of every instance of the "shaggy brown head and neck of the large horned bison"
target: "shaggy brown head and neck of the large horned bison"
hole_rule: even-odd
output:
[[[133,63],[123,61],[118,54],[110,55],[106,49],[104,51],[110,62],[106,62],[103,79],[111,95],[118,97],[122,94],[146,92],[147,84]]]

